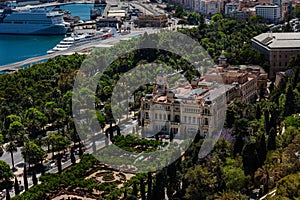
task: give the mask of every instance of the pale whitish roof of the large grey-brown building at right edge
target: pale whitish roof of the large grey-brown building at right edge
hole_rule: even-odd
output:
[[[268,49],[300,49],[300,33],[262,33],[252,39]]]

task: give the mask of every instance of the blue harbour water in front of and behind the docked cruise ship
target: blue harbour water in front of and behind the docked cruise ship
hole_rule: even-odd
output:
[[[90,19],[93,4],[69,4],[61,6],[73,16]],[[47,54],[64,36],[0,35],[0,66]]]

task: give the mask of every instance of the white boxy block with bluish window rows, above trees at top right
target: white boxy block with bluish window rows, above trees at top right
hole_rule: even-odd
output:
[[[255,12],[271,23],[278,23],[281,20],[281,6],[278,5],[257,5]]]

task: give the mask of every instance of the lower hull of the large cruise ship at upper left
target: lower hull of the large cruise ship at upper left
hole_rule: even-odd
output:
[[[0,34],[64,35],[66,32],[63,24],[0,24]]]

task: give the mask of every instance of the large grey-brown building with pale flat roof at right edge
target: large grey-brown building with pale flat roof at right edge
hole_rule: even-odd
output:
[[[269,77],[275,78],[293,56],[300,55],[300,33],[262,33],[252,38],[252,47],[267,57]]]

